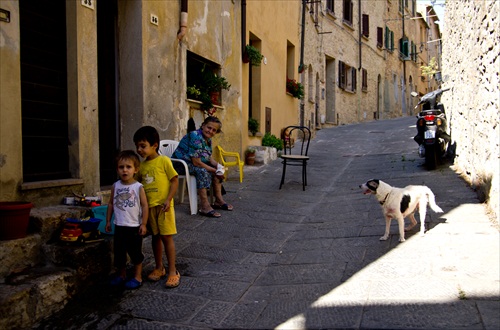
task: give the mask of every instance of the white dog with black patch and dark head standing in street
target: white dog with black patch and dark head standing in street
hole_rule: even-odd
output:
[[[441,213],[443,210],[437,206],[434,193],[426,186],[407,186],[405,188],[396,188],[388,185],[381,180],[369,180],[366,183],[359,185],[363,189],[363,194],[373,194],[382,206],[385,217],[385,234],[380,237],[381,241],[389,238],[389,229],[391,219],[396,219],[399,225],[399,241],[405,241],[405,231],[416,226],[417,220],[413,213],[418,208],[420,215],[420,236],[425,232],[425,215],[427,204],[436,213]],[[410,218],[410,225],[404,227],[404,219]]]

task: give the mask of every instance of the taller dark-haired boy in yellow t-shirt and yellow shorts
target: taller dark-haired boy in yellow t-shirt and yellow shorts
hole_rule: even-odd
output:
[[[156,267],[148,275],[151,281],[158,281],[166,274],[162,258],[162,244],[168,261],[167,288],[180,283],[180,274],[175,267],[175,225],[174,195],[179,186],[178,174],[167,156],[158,154],[160,136],[151,126],[141,127],[134,134],[137,153],[144,158],[139,171],[139,181],[144,185],[149,204],[148,227],[151,231],[153,255]]]

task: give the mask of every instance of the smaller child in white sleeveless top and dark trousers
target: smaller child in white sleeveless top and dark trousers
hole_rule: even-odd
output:
[[[114,263],[117,276],[111,285],[125,283],[127,289],[142,285],[142,236],[146,234],[148,201],[141,183],[134,179],[139,171],[140,160],[132,150],[125,150],[116,157],[116,169],[120,180],[111,187],[106,214],[106,232],[111,231],[111,216],[115,214]],[[126,281],[127,254],[134,264],[135,275]]]

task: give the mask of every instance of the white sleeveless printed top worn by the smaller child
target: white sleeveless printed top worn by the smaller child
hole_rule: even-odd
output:
[[[129,185],[115,182],[115,195],[113,196],[113,211],[115,225],[125,227],[139,227],[142,223],[142,208],[139,190],[140,182]]]

